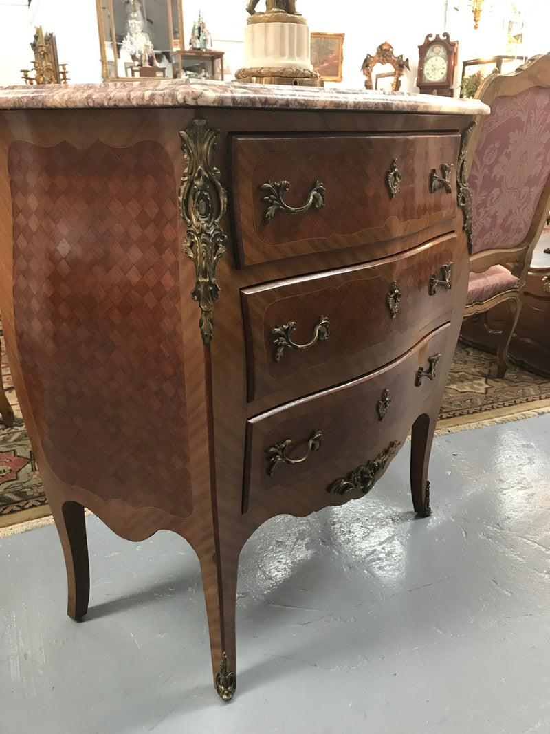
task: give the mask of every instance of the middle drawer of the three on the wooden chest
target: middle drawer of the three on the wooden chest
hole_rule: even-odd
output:
[[[243,288],[249,401],[366,374],[450,319],[456,247],[451,234],[393,258]],[[433,283],[446,278],[450,287]]]

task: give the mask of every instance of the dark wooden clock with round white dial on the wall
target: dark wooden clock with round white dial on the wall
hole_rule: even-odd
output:
[[[458,41],[450,40],[449,34],[433,38],[428,33],[422,46],[418,47],[417,87],[422,94],[439,94],[452,97],[452,81],[458,57]]]

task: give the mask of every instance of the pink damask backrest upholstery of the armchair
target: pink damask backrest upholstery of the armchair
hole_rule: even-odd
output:
[[[497,97],[483,122],[469,174],[472,254],[521,244],[549,172],[549,89],[531,87]]]

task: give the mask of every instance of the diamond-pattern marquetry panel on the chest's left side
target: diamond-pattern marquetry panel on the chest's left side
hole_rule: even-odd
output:
[[[161,145],[15,142],[17,346],[67,484],[191,512],[174,172]]]

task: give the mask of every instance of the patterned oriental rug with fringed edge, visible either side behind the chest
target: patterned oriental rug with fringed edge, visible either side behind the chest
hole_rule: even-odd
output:
[[[50,513],[13,389],[1,329],[0,338],[4,389],[15,412],[12,428],[0,418],[1,536],[16,523],[49,522],[39,518]],[[550,411],[550,380],[516,367],[508,369],[505,379],[492,379],[488,375],[495,361],[492,355],[458,345],[445,388],[439,435]]]

